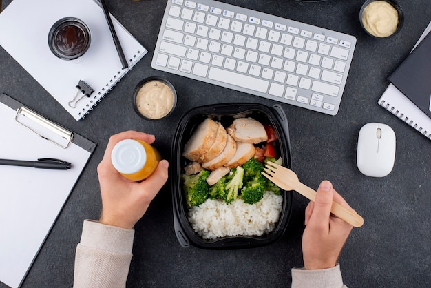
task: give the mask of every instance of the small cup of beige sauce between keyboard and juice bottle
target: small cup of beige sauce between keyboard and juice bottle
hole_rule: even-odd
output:
[[[162,119],[174,110],[177,95],[174,86],[160,77],[140,81],[134,90],[133,104],[143,119]]]

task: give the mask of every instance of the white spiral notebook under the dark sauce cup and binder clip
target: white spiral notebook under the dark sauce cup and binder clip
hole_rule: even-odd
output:
[[[90,48],[72,61],[57,58],[48,46],[52,25],[63,17],[81,19],[90,28]],[[97,0],[14,0],[0,13],[0,45],[80,120],[147,54],[114,17],[112,22],[129,63],[124,70]],[[90,96],[78,90],[80,81],[94,90]],[[72,102],[75,96],[78,102]]]

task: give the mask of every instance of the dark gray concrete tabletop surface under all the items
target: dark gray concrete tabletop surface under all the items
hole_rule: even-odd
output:
[[[405,14],[403,29],[390,39],[372,39],[359,24],[363,0],[224,1],[357,37],[336,116],[282,104],[290,125],[293,169],[303,183],[314,188],[324,179],[332,181],[335,189],[364,216],[364,226],[353,229],[339,258],[344,282],[349,287],[431,287],[431,141],[377,105],[388,85],[387,77],[431,21],[431,2],[398,0]],[[75,121],[0,48],[0,92],[98,144],[23,287],[72,287],[74,254],[83,220],[98,219],[101,211],[96,166],[110,135],[124,130],[153,133],[156,147],[169,158],[176,123],[191,107],[251,101],[275,104],[152,69],[151,58],[166,0],[107,2],[112,14],[149,53],[82,121]],[[3,1],[3,8],[8,3]],[[178,104],[167,119],[145,121],[133,110],[134,87],[147,76],[165,77],[176,87]],[[395,167],[384,178],[364,176],[356,166],[357,136],[368,122],[386,123],[397,135]],[[269,246],[228,251],[185,249],[174,234],[171,184],[167,183],[136,225],[127,287],[290,286],[291,267],[302,266],[301,237],[307,203],[299,194],[293,195],[293,212],[286,233]],[[0,283],[0,287],[4,285]]]

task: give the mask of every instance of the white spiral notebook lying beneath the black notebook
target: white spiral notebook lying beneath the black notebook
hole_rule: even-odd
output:
[[[428,27],[425,28],[425,31],[422,33],[416,45],[414,45],[413,50],[417,45],[419,45],[419,43],[421,43],[430,31],[431,22],[428,24]],[[403,92],[398,90],[395,85],[390,83],[377,103],[431,140],[430,117],[428,117],[425,112],[408,99]]]

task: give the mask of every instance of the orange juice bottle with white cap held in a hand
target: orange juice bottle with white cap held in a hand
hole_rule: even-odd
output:
[[[143,181],[153,174],[161,160],[160,153],[141,140],[125,139],[114,146],[112,165],[125,178]]]

